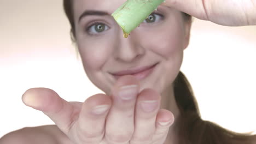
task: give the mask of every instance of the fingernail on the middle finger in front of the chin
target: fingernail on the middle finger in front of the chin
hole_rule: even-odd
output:
[[[138,93],[137,85],[123,86],[119,91],[119,97],[123,100],[130,100],[136,97]]]

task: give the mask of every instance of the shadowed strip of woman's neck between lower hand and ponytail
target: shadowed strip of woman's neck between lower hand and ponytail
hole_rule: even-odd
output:
[[[178,141],[178,121],[179,121],[179,108],[174,97],[173,85],[167,87],[161,93],[161,109],[169,110],[174,115],[174,123],[171,125],[165,143],[177,143]]]

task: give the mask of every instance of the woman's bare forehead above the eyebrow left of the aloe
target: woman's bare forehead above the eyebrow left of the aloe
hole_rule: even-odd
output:
[[[73,0],[75,16],[85,10],[100,10],[112,14],[126,0]]]

